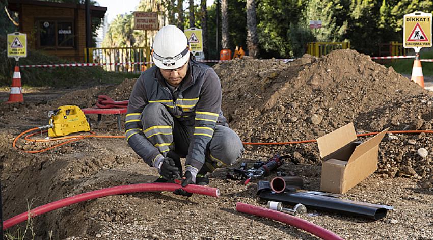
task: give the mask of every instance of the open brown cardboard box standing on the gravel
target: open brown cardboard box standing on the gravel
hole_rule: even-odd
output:
[[[379,143],[388,128],[365,142],[357,141],[353,123],[317,139],[322,158],[320,191],[346,193],[377,169]]]

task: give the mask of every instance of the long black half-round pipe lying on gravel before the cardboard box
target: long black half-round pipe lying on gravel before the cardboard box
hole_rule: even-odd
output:
[[[303,192],[273,194],[270,191],[261,191],[259,196],[261,199],[267,201],[277,201],[285,204],[302,203],[312,209],[334,211],[345,215],[358,216],[373,220],[384,218],[387,214],[387,210],[393,208],[392,206],[357,202]]]

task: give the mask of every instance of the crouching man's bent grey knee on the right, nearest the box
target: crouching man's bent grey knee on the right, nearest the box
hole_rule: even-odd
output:
[[[232,129],[218,125],[210,142],[211,161],[221,161],[224,165],[232,165],[243,153],[242,141]],[[220,166],[223,167],[223,166]]]

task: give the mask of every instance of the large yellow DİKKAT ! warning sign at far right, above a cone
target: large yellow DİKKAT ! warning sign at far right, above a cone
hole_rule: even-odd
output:
[[[431,47],[431,13],[414,12],[404,15],[404,47]]]

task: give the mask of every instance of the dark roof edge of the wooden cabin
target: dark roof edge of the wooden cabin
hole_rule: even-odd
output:
[[[37,5],[45,7],[56,7],[56,8],[73,8],[73,9],[86,9],[84,4],[68,4],[68,3],[54,3],[37,0],[9,0],[8,8],[14,12],[19,12],[20,5]],[[103,18],[107,7],[101,6],[90,6],[90,15],[93,17]]]

